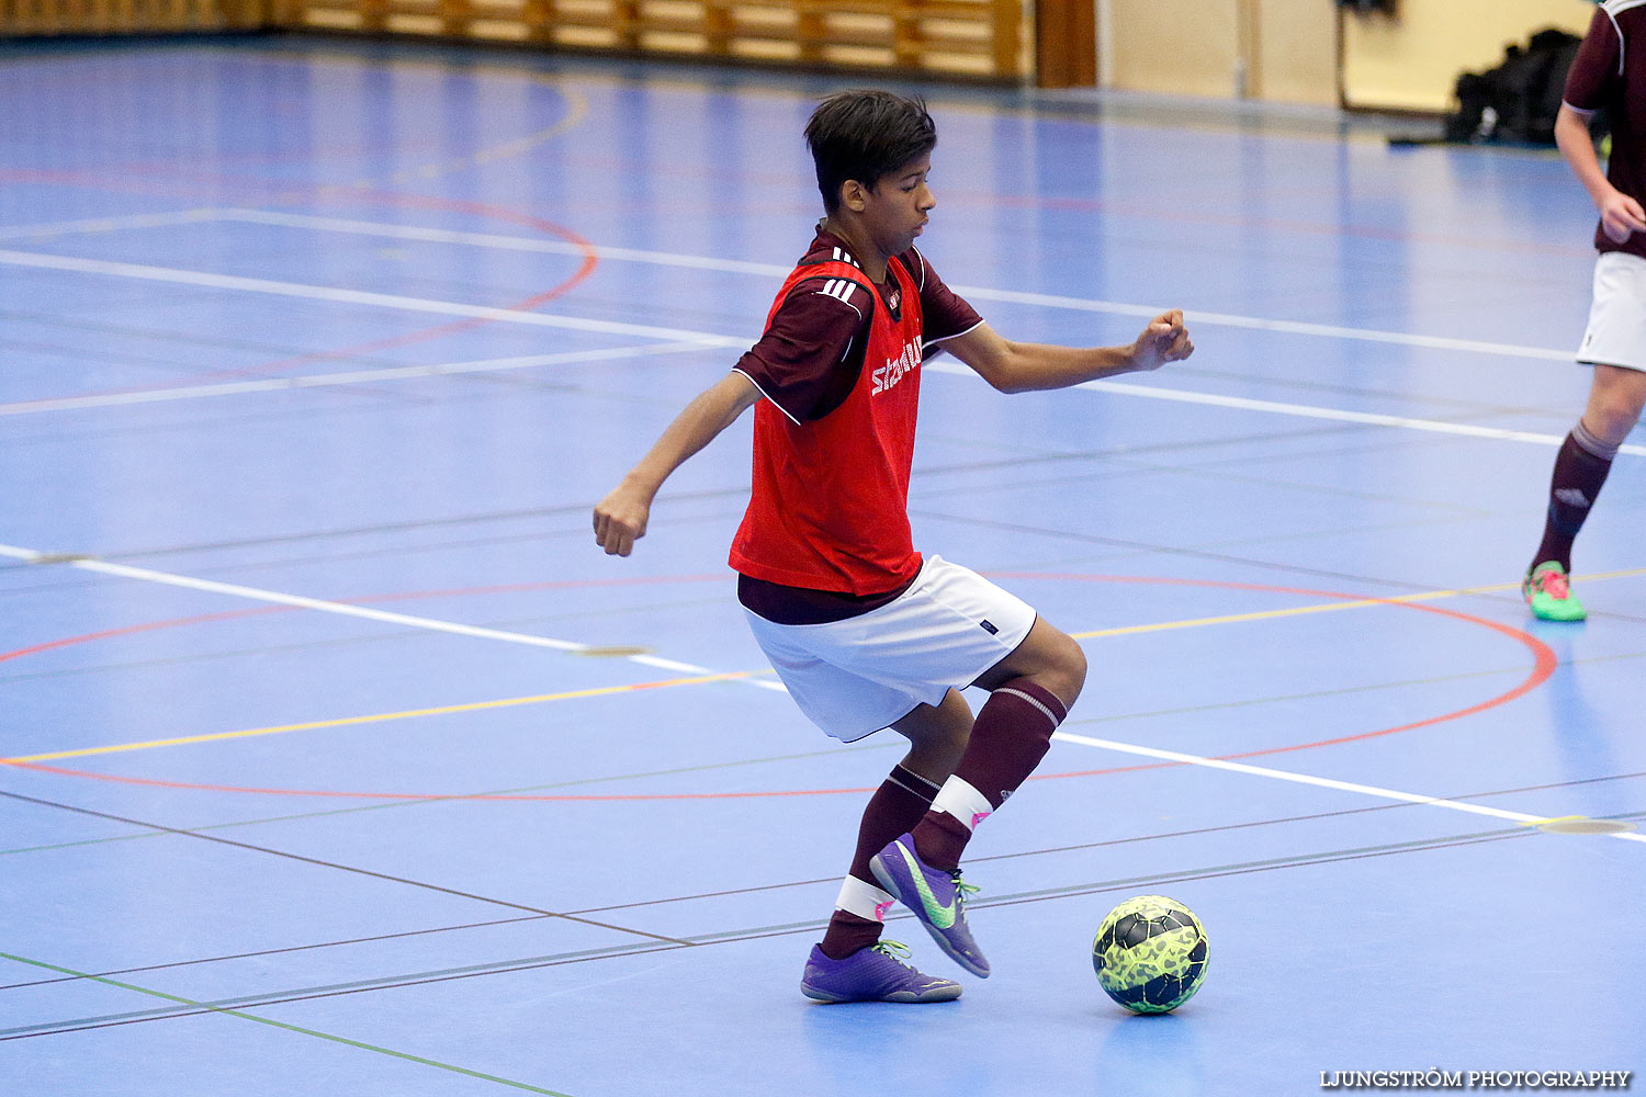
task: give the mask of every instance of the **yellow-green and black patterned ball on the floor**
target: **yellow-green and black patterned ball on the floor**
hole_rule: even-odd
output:
[[[1091,942],[1103,990],[1132,1013],[1169,1013],[1207,977],[1207,931],[1164,895],[1139,895],[1109,911]]]

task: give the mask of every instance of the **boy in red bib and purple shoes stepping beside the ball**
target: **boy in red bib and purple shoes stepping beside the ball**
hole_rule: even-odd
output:
[[[737,599],[795,702],[853,742],[890,727],[909,755],[874,793],[858,850],[800,988],[823,1002],[946,1002],[881,941],[894,901],[961,967],[989,964],[966,923],[960,855],[1029,776],[1085,683],[1065,633],[983,579],[914,549],[909,470],[922,359],[948,350],[1001,391],[1154,370],[1193,345],[1179,311],[1123,347],[1016,344],[958,298],[914,238],[937,128],[925,104],[843,92],[807,123],[825,217],[765,334],[698,395],[594,508],[594,536],[627,556],[680,464],[754,406],[754,487],[731,546]],[[958,692],[979,686],[971,714]]]

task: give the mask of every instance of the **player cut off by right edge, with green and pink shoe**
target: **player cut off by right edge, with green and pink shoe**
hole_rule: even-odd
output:
[[[1588,120],[1605,109],[1611,163],[1600,169]],[[1605,0],[1565,77],[1555,143],[1600,211],[1595,296],[1577,360],[1593,367],[1588,406],[1565,436],[1549,484],[1544,539],[1521,582],[1532,613],[1583,620],[1572,541],[1646,405],[1646,5]]]

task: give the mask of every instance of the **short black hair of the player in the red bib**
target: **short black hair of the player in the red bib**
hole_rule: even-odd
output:
[[[937,123],[923,99],[882,90],[838,92],[807,122],[807,145],[818,169],[823,209],[839,209],[839,187],[856,179],[869,189],[937,148]]]

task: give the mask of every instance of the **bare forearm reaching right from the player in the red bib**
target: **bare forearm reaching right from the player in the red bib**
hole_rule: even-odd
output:
[[[978,372],[1002,393],[1068,388],[1116,373],[1157,370],[1195,350],[1183,312],[1172,309],[1149,321],[1137,339],[1121,347],[1055,347],[1011,342],[988,324],[943,342],[943,349]]]

